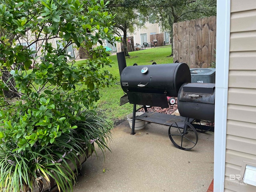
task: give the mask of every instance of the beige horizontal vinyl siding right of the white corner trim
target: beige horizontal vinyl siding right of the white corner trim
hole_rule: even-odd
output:
[[[256,163],[256,1],[231,0],[225,192],[255,192],[230,175]]]

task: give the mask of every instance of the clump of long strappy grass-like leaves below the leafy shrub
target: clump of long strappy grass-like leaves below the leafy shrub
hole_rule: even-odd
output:
[[[59,190],[72,190],[82,154],[90,155],[94,151],[94,142],[102,149],[108,148],[105,139],[111,139],[111,126],[84,112],[84,119],[75,121],[78,126],[68,133],[56,137],[53,144],[42,147],[35,143],[25,150],[17,152],[16,140],[7,140],[0,150],[0,187],[2,191],[31,191],[36,185],[40,191],[45,187],[41,176],[49,182],[53,178]],[[86,119],[86,120],[85,120]],[[86,157],[87,158],[87,157]],[[75,167],[72,170],[70,162]],[[6,182],[8,181],[8,182]],[[5,183],[6,182],[6,183]],[[46,183],[47,183],[46,182]]]

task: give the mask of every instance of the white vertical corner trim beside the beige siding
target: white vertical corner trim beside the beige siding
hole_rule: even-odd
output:
[[[217,0],[216,23],[214,192],[224,192],[230,50],[230,0]]]

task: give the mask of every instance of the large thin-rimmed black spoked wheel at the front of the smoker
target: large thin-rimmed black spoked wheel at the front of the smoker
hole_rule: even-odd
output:
[[[186,121],[174,122],[169,127],[168,133],[174,146],[182,150],[192,149],[198,141],[196,129]]]

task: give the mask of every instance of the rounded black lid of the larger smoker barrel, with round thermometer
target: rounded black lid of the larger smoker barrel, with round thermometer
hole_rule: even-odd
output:
[[[138,65],[124,68],[120,76],[124,92],[141,92],[178,96],[180,86],[191,82],[186,63]]]

